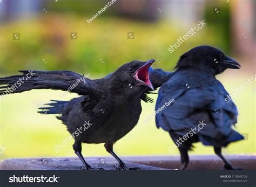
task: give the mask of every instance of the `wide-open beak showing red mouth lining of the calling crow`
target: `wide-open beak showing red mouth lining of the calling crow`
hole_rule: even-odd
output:
[[[141,84],[152,89],[152,91],[154,91],[154,87],[152,86],[149,79],[149,68],[154,63],[154,61],[155,60],[153,59],[145,61],[134,74],[136,80],[138,80]]]

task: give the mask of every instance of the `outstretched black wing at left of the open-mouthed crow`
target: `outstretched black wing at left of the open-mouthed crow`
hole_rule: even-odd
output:
[[[79,95],[95,95],[97,91],[97,85],[93,80],[71,71],[19,72],[22,74],[0,78],[0,95],[21,93],[31,89],[60,89]]]

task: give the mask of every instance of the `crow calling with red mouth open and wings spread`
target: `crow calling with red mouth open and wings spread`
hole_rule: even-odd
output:
[[[75,138],[73,149],[86,170],[93,169],[82,156],[82,143],[105,143],[106,151],[119,162],[117,169],[128,170],[113,151],[113,144],[136,126],[146,94],[154,90],[149,67],[154,60],[131,61],[102,79],[90,80],[70,71],[20,71],[22,75],[0,78],[0,95],[31,89],[60,89],[77,93],[79,98],[54,101],[42,107],[42,114],[60,114],[61,120]],[[29,78],[25,77],[30,74]],[[25,78],[24,78],[25,77]],[[135,168],[136,169],[136,168]]]

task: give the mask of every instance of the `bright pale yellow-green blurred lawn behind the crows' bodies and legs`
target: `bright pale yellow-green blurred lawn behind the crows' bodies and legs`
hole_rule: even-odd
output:
[[[232,71],[232,70],[228,70]],[[228,73],[224,73],[229,75]],[[248,75],[237,75],[234,81],[233,75],[221,75],[227,91],[232,93],[234,89],[242,84]],[[250,85],[235,98],[239,116],[237,129],[239,133],[247,133],[248,140],[231,143],[223,149],[225,154],[251,154],[255,153],[255,87]],[[156,100],[154,95],[154,99]],[[21,94],[8,95],[0,102],[1,109],[1,139],[0,145],[6,150],[0,154],[1,158],[11,157],[50,157],[50,156],[75,156],[72,150],[73,142],[56,153],[53,149],[62,143],[65,137],[69,137],[66,127],[55,115],[42,115],[37,113],[37,108],[50,99],[69,100],[76,94],[63,95],[61,91],[37,90]],[[154,111],[155,103],[144,103],[143,112],[137,126],[125,137],[114,144],[114,150],[118,155],[177,155],[168,151],[172,142],[169,134],[157,129],[154,116],[147,118]],[[146,122],[145,122],[146,121]],[[83,144],[84,156],[109,155],[103,144]],[[196,143],[196,148],[191,154],[214,154],[212,147]]]

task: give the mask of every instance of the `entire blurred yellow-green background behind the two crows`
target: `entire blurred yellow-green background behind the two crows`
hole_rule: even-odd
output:
[[[250,11],[242,3],[255,4],[254,1],[117,0],[87,23],[107,2],[0,3],[0,76],[12,75],[17,70],[70,70],[89,73],[93,79],[136,59],[156,59],[154,68],[172,71],[184,52],[197,45],[212,45],[238,59],[243,67],[218,76],[228,92],[233,93],[247,78],[254,77],[255,12],[252,11],[249,19]],[[237,12],[240,12],[239,20],[232,16]],[[207,25],[170,54],[170,45],[203,19]],[[77,33],[77,39],[71,38],[73,32]],[[133,39],[129,38],[129,32],[134,33]],[[19,33],[18,40],[14,39],[14,33]],[[53,150],[69,133],[55,116],[39,115],[37,108],[50,99],[69,100],[76,96],[46,90],[6,96],[0,101],[0,146],[6,149],[0,159],[74,156],[73,142],[59,153]],[[255,83],[239,93],[234,102],[239,109],[237,130],[247,140],[231,144],[224,153],[255,153]],[[168,149],[174,143],[169,134],[156,128],[154,117],[146,120],[153,113],[154,105],[143,103],[136,128],[114,146],[118,155],[170,155]],[[83,147],[84,156],[109,155],[103,144]],[[192,154],[213,154],[213,149],[197,143]]]

